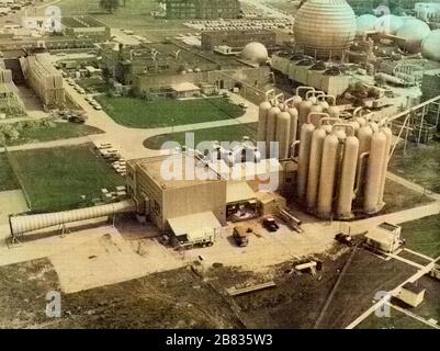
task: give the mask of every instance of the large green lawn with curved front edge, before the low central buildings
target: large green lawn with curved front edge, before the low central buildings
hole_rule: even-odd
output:
[[[127,127],[158,128],[237,118],[245,111],[224,98],[146,101],[136,98],[98,97],[106,113]]]

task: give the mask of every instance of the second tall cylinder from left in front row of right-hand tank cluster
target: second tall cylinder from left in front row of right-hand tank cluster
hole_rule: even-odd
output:
[[[323,161],[324,140],[326,131],[319,127],[313,132],[311,145],[311,161],[308,165],[306,204],[308,211],[314,211],[318,201],[320,165]]]

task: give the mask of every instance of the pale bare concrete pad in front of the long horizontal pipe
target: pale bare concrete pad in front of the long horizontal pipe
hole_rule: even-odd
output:
[[[139,253],[119,233],[113,231],[71,246],[48,259],[66,294],[182,267],[182,261],[160,250],[154,240],[148,240],[138,248]]]

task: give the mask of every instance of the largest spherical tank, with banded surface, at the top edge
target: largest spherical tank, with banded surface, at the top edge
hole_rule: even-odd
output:
[[[295,42],[307,55],[340,56],[356,32],[356,14],[346,0],[308,0],[296,13]]]

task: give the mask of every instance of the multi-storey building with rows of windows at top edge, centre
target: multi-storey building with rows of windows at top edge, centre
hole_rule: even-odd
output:
[[[165,0],[168,19],[237,19],[240,15],[238,0]]]

